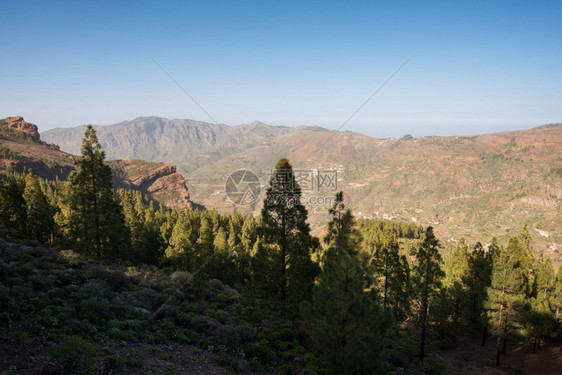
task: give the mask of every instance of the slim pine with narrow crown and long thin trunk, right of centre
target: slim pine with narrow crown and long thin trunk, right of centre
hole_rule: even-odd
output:
[[[420,360],[425,356],[425,336],[429,317],[430,302],[439,295],[441,279],[444,272],[441,269],[441,255],[439,254],[439,241],[433,234],[433,227],[427,227],[425,238],[416,254],[414,264],[414,284],[416,295],[420,301]]]

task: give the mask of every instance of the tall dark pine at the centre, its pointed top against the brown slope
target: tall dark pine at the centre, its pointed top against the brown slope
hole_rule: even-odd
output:
[[[301,203],[301,189],[293,168],[281,158],[269,181],[262,209],[261,233],[265,241],[279,251],[277,299],[283,312],[296,311],[289,305],[310,300],[317,267],[311,251],[318,246],[310,235],[307,210]]]

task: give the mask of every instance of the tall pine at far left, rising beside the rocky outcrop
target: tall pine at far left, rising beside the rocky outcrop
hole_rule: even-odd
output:
[[[69,176],[59,222],[66,227],[67,243],[98,257],[119,257],[129,235],[113,191],[111,169],[104,164],[105,153],[91,125],[84,133],[81,153]]]

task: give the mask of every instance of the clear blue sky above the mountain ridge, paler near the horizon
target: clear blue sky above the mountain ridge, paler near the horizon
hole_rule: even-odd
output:
[[[2,1],[0,118],[454,135],[562,122],[562,1]]]

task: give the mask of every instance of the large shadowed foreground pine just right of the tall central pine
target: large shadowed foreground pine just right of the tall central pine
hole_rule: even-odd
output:
[[[312,304],[315,341],[332,373],[376,373],[385,322],[358,257],[360,237],[341,192],[330,214]]]

